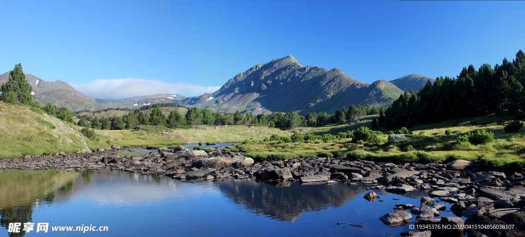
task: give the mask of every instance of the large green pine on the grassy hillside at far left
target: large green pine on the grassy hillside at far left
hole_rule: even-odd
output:
[[[0,86],[0,100],[8,103],[20,102],[22,104],[33,104],[31,85],[26,80],[22,71],[22,64],[15,65],[15,69],[9,72],[9,79]]]

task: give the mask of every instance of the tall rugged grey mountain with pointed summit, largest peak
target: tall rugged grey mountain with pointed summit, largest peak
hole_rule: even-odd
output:
[[[403,90],[388,81],[367,84],[337,68],[303,67],[297,59],[287,56],[257,64],[216,92],[186,98],[181,103],[227,112],[333,113],[351,104],[386,105],[401,93]]]

